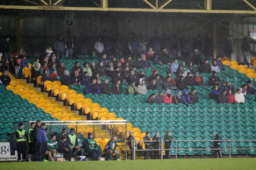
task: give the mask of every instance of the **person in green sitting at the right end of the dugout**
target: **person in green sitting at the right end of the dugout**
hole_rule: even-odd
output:
[[[117,136],[113,136],[112,139],[110,139],[110,141],[105,146],[104,152],[109,153],[109,159],[110,160],[112,160],[112,154],[113,153],[117,154],[117,160],[121,160],[119,150],[115,150],[115,147],[117,146],[117,143],[121,143],[121,142],[127,142],[127,141],[119,141],[119,140],[117,140]]]

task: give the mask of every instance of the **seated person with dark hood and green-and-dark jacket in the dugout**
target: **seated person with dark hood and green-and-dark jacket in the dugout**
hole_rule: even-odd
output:
[[[94,140],[93,134],[88,132],[88,138],[82,142],[82,148],[84,148],[85,152],[90,155],[90,158],[92,160],[97,160],[97,158],[100,158],[101,152],[97,150],[97,145],[96,141]]]

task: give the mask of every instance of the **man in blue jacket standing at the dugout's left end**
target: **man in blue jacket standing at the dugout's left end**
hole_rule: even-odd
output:
[[[43,161],[44,155],[46,155],[48,141],[45,123],[42,123],[41,127],[38,129],[36,133],[36,141],[38,142],[38,161]]]

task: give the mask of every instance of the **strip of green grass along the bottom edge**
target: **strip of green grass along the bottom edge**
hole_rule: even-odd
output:
[[[97,162],[7,162],[0,163],[1,170],[66,170],[66,169],[195,169],[195,170],[250,170],[256,169],[256,158],[225,159],[168,159],[168,160],[127,160]]]

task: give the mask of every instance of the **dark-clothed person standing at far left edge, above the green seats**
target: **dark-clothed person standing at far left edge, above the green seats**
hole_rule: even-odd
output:
[[[5,35],[5,39],[2,40],[2,42],[0,43],[0,52],[2,52],[3,54],[3,64],[1,67],[1,71],[5,70],[5,65],[7,60],[10,63],[10,71],[13,74],[14,73],[14,66],[13,66],[13,62],[11,61],[11,55],[10,55],[10,45],[9,45],[9,40],[10,40],[10,36],[9,35]]]

